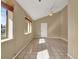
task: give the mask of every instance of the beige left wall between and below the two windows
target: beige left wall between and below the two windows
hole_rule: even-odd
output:
[[[25,16],[24,10],[14,2],[13,39],[1,43],[1,59],[12,59],[33,38],[32,33],[24,35]]]

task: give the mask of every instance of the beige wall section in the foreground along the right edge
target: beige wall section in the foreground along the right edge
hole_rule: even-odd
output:
[[[77,58],[77,22],[78,22],[78,0],[69,0],[68,5],[68,54],[72,56],[73,59]]]

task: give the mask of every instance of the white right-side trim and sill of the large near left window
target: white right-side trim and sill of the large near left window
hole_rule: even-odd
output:
[[[10,15],[8,14],[8,38],[2,39],[1,43],[12,40],[13,39],[13,13],[8,11],[8,13],[10,13]]]

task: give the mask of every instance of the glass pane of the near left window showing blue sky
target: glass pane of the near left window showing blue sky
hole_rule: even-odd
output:
[[[1,7],[1,39],[6,38],[7,10]]]

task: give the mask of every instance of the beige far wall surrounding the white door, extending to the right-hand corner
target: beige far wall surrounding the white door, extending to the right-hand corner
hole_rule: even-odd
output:
[[[60,37],[67,40],[67,7],[61,12],[53,14],[53,16],[47,16],[42,19],[38,19],[34,22],[35,37],[40,37],[41,23],[48,24],[48,37]]]

